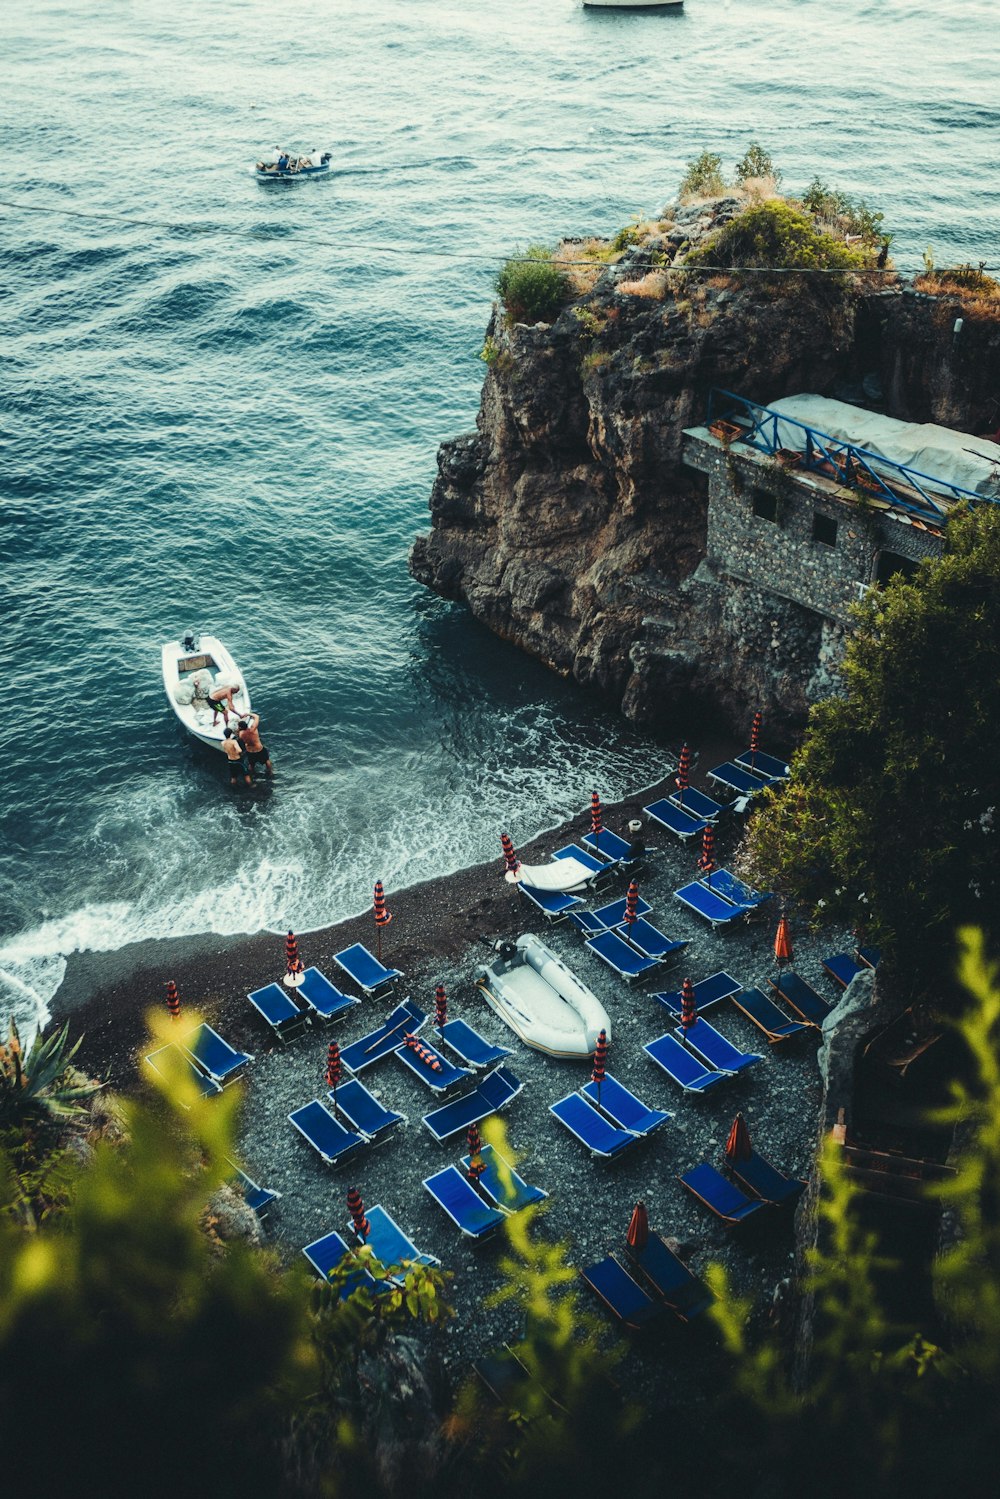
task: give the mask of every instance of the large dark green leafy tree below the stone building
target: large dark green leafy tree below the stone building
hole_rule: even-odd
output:
[[[754,868],[882,941],[909,991],[948,992],[957,925],[1000,935],[1000,507],[867,595],[841,675],[751,824]]]

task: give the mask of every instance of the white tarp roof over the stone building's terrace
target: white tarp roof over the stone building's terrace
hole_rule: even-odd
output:
[[[925,489],[946,492],[948,484],[958,484],[976,495],[1000,499],[1000,444],[990,442],[988,438],[973,438],[933,421],[897,421],[895,417],[862,411],[861,406],[831,400],[828,396],[784,396],[772,400],[768,409],[889,459],[891,463],[903,463],[925,474],[930,480],[921,481]],[[805,433],[801,427],[780,421],[778,447],[801,453],[805,448]]]

